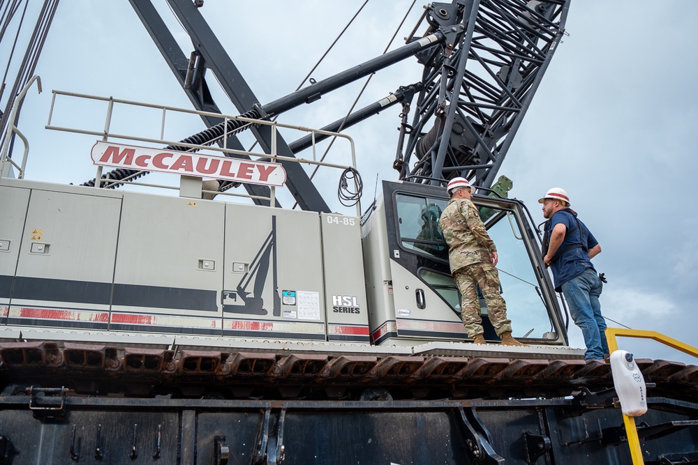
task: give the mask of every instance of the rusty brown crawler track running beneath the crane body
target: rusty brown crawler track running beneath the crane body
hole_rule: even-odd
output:
[[[119,350],[56,342],[0,345],[3,395],[29,386],[75,395],[225,398],[352,398],[370,389],[393,398],[560,397],[613,387],[610,365],[593,360],[456,356],[332,356],[320,353]],[[698,367],[636,359],[648,395],[698,400]],[[12,383],[9,383],[12,380]]]

